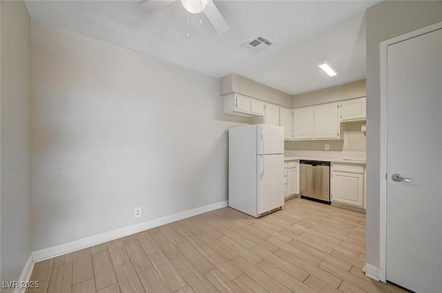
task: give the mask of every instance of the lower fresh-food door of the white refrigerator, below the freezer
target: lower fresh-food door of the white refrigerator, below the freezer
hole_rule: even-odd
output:
[[[258,155],[257,214],[284,205],[284,154]]]

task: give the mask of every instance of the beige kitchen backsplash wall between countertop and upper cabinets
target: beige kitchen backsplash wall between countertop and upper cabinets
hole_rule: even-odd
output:
[[[361,132],[361,125],[365,122],[344,124],[344,140],[329,141],[285,141],[285,150],[325,150],[325,143],[330,150],[365,152],[367,150],[367,136]]]

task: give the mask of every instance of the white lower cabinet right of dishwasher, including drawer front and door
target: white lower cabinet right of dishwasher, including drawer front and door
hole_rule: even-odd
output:
[[[365,208],[365,165],[332,163],[332,203]]]

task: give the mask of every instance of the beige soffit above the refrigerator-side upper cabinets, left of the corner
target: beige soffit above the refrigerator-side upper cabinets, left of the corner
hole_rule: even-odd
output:
[[[220,94],[225,96],[232,92],[291,108],[289,94],[234,73],[220,79]]]

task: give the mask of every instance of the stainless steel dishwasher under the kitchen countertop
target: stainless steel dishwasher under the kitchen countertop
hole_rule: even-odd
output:
[[[300,194],[330,203],[330,162],[300,160]]]

